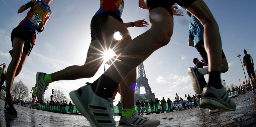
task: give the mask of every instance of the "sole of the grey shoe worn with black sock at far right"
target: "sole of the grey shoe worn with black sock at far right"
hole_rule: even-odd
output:
[[[209,108],[209,109],[217,109],[218,111],[224,112],[224,111],[235,111],[236,109],[229,108],[219,101],[213,100],[212,98],[204,97],[204,99],[201,99],[201,107]]]

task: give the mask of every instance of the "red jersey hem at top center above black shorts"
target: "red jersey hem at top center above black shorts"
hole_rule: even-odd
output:
[[[121,17],[124,9],[124,0],[100,0],[100,4],[100,9],[94,16],[102,12],[113,11],[116,12],[119,17]]]

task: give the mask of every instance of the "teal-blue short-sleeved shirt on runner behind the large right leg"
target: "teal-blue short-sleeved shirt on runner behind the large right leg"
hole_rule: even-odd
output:
[[[194,40],[194,46],[196,46],[198,41],[204,39],[204,26],[193,15],[191,15],[189,20],[189,38]]]

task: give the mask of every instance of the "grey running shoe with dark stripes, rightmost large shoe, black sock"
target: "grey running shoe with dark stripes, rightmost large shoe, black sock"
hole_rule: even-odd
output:
[[[235,102],[228,97],[224,87],[221,89],[212,86],[204,87],[200,106],[218,111],[235,111],[236,109]]]

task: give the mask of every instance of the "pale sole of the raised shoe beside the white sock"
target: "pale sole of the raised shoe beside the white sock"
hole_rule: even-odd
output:
[[[194,91],[197,94],[201,94],[201,87],[199,85],[199,81],[197,80],[197,78],[195,78],[195,77],[197,77],[196,73],[191,68],[188,69],[188,73],[189,73],[189,76],[190,76],[190,78],[192,80],[192,86],[194,88]]]

